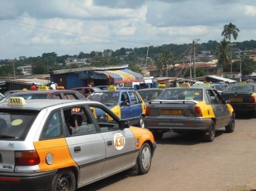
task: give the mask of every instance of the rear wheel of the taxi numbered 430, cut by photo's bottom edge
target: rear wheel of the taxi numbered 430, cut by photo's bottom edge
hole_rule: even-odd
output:
[[[70,170],[61,170],[57,172],[52,181],[50,191],[62,191],[61,187],[66,186],[65,191],[75,191],[75,177],[74,172]]]

